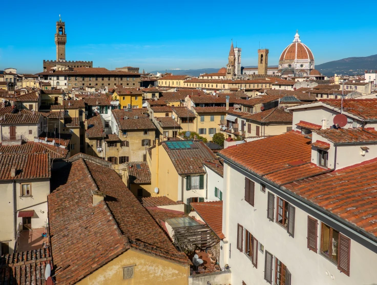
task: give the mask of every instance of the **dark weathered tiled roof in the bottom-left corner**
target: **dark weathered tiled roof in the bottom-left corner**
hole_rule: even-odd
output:
[[[2,255],[0,284],[45,285],[47,264],[53,268],[50,247]]]

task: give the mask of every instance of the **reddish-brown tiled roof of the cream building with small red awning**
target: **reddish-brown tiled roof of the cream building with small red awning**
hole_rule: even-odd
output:
[[[15,176],[11,176],[12,168],[15,169]],[[1,154],[0,169],[0,180],[50,178],[50,154]]]

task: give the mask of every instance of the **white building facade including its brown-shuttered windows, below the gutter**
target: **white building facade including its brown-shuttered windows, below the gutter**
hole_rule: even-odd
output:
[[[245,197],[245,176],[254,182],[252,198],[248,195]],[[232,271],[232,284],[242,284],[242,282],[264,284],[265,273],[271,283],[279,285],[288,284],[285,278],[289,274],[291,278],[289,284],[292,285],[375,283],[377,280],[375,243],[360,237],[328,216],[312,210],[313,208],[309,208],[296,198],[267,184],[263,192],[260,182],[259,178],[247,174],[236,166],[229,166],[228,162],[225,163],[226,194],[223,195],[223,233],[226,238],[221,243],[220,266],[224,267],[224,264],[229,264]],[[272,221],[267,218],[267,213],[271,214],[271,210],[268,212],[270,208],[267,207],[269,196],[273,197],[274,205]],[[295,209],[294,214],[290,214],[290,219],[289,214],[288,216],[285,214],[288,220],[285,222],[284,219],[283,223],[279,220],[282,220],[285,211],[283,209],[280,211],[280,217],[277,214],[277,203],[280,199],[284,202],[280,205],[285,206],[287,211],[288,205]],[[293,223],[289,223],[292,217],[294,217]],[[310,223],[311,226],[317,224],[317,229],[314,230],[316,234],[311,232],[309,235],[312,250],[308,249],[308,217],[317,220]],[[333,237],[336,238],[329,239],[330,228],[322,228],[319,217],[335,230]],[[294,225],[294,228],[289,225]],[[290,228],[291,234],[288,234],[287,228]],[[348,273],[343,273],[338,269],[337,261],[341,253],[339,240],[337,240],[340,234],[337,231],[342,234],[343,242],[348,242],[350,238],[349,276]],[[313,237],[317,237],[317,240]],[[315,246],[317,246],[317,252],[313,251]],[[248,254],[249,247],[254,248],[254,253]],[[342,251],[342,256],[344,258],[344,251]],[[344,259],[342,260],[344,262]],[[266,261],[267,268],[265,268]]]

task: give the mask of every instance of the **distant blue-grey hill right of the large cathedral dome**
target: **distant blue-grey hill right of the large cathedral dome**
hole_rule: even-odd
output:
[[[365,57],[348,57],[333,62],[316,65],[316,69],[326,76],[336,74],[364,74],[365,70],[377,70],[377,54]]]

